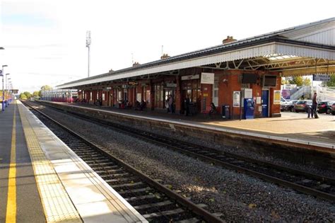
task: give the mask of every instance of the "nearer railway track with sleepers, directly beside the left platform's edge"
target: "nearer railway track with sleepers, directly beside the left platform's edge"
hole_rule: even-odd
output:
[[[194,204],[48,115],[24,104],[148,222],[223,222],[218,215],[204,210],[206,205]]]

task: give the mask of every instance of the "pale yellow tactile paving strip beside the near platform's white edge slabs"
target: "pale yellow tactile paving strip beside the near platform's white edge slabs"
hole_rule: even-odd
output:
[[[18,104],[18,108],[47,222],[83,222],[42,151],[22,105]]]

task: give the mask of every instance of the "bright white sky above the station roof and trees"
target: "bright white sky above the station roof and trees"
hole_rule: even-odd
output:
[[[335,1],[0,0],[0,65],[13,88],[90,76],[335,16]]]

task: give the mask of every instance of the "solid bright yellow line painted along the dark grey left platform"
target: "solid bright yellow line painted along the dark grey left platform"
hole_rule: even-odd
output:
[[[6,222],[16,222],[16,105],[14,104],[13,131],[11,133],[11,164],[8,175]]]

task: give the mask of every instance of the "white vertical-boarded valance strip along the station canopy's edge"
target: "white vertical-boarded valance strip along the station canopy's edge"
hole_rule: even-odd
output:
[[[82,79],[62,84],[59,88],[74,88],[76,86],[95,84],[104,81],[113,81],[117,79],[130,78],[145,74],[155,74],[167,72],[176,69],[186,69],[189,67],[199,67],[208,64],[216,64],[219,62],[229,62],[237,59],[248,59],[252,57],[264,57],[265,55],[290,55],[297,57],[312,57],[335,60],[335,50],[328,50],[319,47],[310,47],[304,45],[294,45],[283,42],[269,42],[263,45],[255,45],[245,47],[238,50],[221,52],[216,55],[207,55],[204,57],[196,57],[193,59],[185,59],[179,62],[171,62],[169,64],[161,64],[155,67],[137,69],[134,71],[125,71],[119,74],[110,74],[98,77],[96,79]]]

